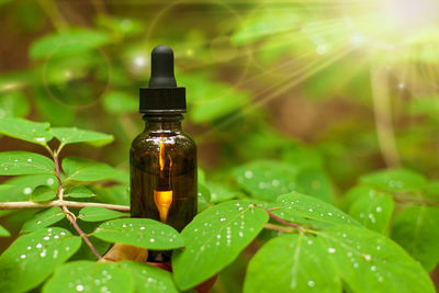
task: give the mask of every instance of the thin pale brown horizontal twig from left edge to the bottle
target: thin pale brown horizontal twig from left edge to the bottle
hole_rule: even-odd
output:
[[[128,205],[116,205],[108,203],[95,203],[95,202],[71,202],[57,200],[53,202],[0,202],[0,210],[21,210],[21,209],[42,209],[50,206],[66,206],[70,209],[82,209],[86,206],[98,206],[117,212],[130,212]]]

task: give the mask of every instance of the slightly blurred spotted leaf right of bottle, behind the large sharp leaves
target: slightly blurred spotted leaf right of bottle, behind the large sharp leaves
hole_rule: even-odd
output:
[[[275,201],[280,194],[295,191],[296,173],[294,166],[269,160],[252,161],[234,170],[238,184],[264,201]]]

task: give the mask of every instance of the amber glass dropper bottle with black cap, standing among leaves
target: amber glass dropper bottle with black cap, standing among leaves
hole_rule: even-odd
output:
[[[151,53],[148,88],[140,88],[145,129],[130,151],[131,214],[166,223],[177,230],[196,214],[196,146],[181,128],[185,89],[177,87],[173,53],[159,45]],[[170,261],[170,251],[149,251],[148,261]]]

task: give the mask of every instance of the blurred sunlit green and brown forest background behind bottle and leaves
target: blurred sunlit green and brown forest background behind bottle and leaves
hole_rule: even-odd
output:
[[[336,202],[376,169],[438,179],[437,15],[435,0],[0,0],[0,117],[113,134],[64,155],[127,169],[144,127],[138,88],[167,44],[217,196],[255,159],[306,167],[303,180]],[[11,149],[41,151],[1,137]],[[238,262],[225,274],[243,274]]]

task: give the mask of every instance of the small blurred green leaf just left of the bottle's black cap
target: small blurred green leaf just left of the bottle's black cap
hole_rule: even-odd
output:
[[[137,99],[121,91],[106,93],[102,98],[102,105],[110,114],[134,113],[138,110]]]

